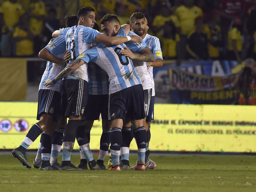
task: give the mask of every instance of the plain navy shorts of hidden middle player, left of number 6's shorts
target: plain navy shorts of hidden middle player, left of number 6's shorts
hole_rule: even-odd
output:
[[[102,119],[108,119],[108,94],[89,95],[85,109],[86,120],[98,120],[101,114]]]

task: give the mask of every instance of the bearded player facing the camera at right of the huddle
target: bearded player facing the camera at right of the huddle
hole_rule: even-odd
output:
[[[151,121],[154,120],[154,103],[155,103],[155,83],[153,79],[153,67],[163,66],[162,51],[161,51],[159,39],[157,37],[147,34],[147,31],[148,31],[147,19],[145,18],[142,12],[136,12],[131,15],[130,26],[132,31],[143,39],[143,41],[148,45],[149,49],[155,56],[155,61],[147,62],[147,67],[148,67],[148,71],[149,71],[149,74],[151,77],[151,83],[152,83],[152,96],[149,104],[148,116],[146,117],[146,122],[148,126],[145,127],[146,134],[147,134],[145,161],[146,161],[146,165],[149,161],[149,164],[147,166],[148,169],[154,169],[156,168],[156,163],[149,158],[149,141],[151,137],[150,126],[151,126]]]

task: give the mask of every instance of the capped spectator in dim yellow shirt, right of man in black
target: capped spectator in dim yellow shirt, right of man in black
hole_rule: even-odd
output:
[[[209,22],[204,25],[204,33],[208,38],[209,57],[212,60],[220,59],[219,48],[222,44],[221,29],[218,25],[220,23],[220,12],[212,10],[209,14]]]

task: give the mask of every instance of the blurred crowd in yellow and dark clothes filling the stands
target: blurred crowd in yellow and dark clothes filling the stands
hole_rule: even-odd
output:
[[[121,24],[145,13],[148,33],[164,59],[256,59],[256,0],[0,0],[0,56],[37,57],[66,15],[89,6],[96,20],[116,14]]]

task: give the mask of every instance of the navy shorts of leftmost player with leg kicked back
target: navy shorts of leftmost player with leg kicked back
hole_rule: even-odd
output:
[[[47,113],[58,122],[61,116],[61,94],[51,89],[40,89],[38,92],[37,120],[41,114]]]

